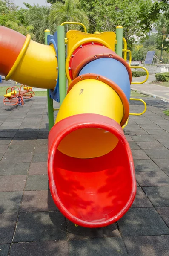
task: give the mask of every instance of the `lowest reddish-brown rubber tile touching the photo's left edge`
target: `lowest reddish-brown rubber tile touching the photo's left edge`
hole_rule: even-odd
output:
[[[23,191],[26,175],[3,175],[0,177],[0,191]]]

